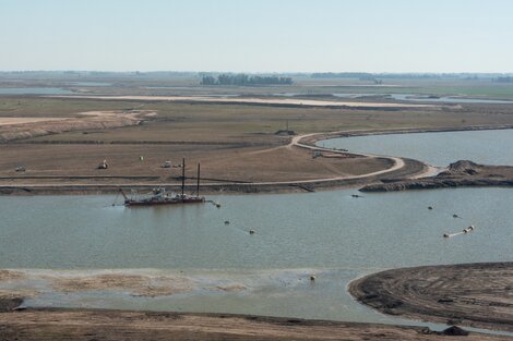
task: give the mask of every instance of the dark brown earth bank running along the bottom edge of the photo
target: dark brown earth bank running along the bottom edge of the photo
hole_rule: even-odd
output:
[[[12,300],[20,300],[19,297]],[[17,301],[16,301],[17,302]],[[421,326],[348,322],[222,313],[0,306],[0,336],[15,340],[438,340]],[[506,338],[467,332],[466,340]],[[85,339],[84,339],[85,338]],[[68,339],[67,339],[68,340]]]

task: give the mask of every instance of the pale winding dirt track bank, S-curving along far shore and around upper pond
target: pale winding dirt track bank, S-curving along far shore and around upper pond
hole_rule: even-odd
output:
[[[387,129],[387,130],[361,130],[361,131],[336,131],[311,133],[298,136],[298,141],[294,146],[307,147],[309,149],[318,148],[321,150],[330,150],[335,153],[344,153],[346,155],[361,156],[358,153],[341,151],[338,149],[323,148],[315,145],[317,142],[323,139],[332,139],[339,137],[355,137],[368,135],[389,135],[389,134],[413,134],[413,133],[441,133],[441,132],[464,132],[464,131],[485,131],[485,130],[508,130],[513,129],[513,124],[501,125],[473,125],[473,126],[446,126],[446,127],[410,127],[410,129]],[[374,156],[390,159],[391,156]],[[395,179],[409,180],[422,176],[429,172],[430,166],[414,159],[396,157],[405,162],[405,166],[395,171],[386,172],[384,169],[382,174],[358,176],[349,176],[348,179],[319,179],[318,181],[289,181],[279,183],[219,183],[219,184],[202,184],[201,192],[207,195],[215,194],[277,194],[277,193],[298,193],[298,192],[315,192],[332,191],[342,188],[362,187],[370,184],[379,184],[381,180]],[[464,184],[468,185],[468,184]],[[492,184],[496,186],[497,184]],[[132,188],[139,191],[152,191],[155,186],[176,186],[176,184],[73,184],[73,185],[55,185],[55,184],[33,184],[33,185],[0,185],[0,195],[100,195],[115,194],[119,188]],[[194,191],[195,186],[186,186],[186,191]]]

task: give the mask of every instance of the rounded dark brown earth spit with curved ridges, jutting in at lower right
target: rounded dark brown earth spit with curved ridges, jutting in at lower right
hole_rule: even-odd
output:
[[[513,263],[386,270],[351,282],[349,292],[385,314],[513,331]]]

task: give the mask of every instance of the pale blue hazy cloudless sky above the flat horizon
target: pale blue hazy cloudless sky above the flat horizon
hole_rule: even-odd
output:
[[[513,72],[511,0],[0,0],[0,70]]]

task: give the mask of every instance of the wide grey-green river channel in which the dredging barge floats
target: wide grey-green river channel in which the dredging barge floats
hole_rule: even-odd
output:
[[[498,134],[482,133],[484,143]],[[502,150],[508,151],[506,146]],[[361,151],[381,153],[369,149]],[[461,151],[475,159],[472,148]],[[389,268],[513,261],[511,190],[377,193],[361,198],[351,197],[355,193],[218,195],[208,199],[220,208],[204,204],[131,209],[111,206],[115,196],[2,196],[0,268],[22,269],[27,278],[0,282],[0,289],[37,292],[26,301],[33,306],[397,324],[406,321],[355,302],[347,283]],[[476,227],[473,233],[442,238],[469,224]],[[156,296],[126,290],[62,292],[56,284],[56,279],[105,273],[178,276],[192,284]]]

